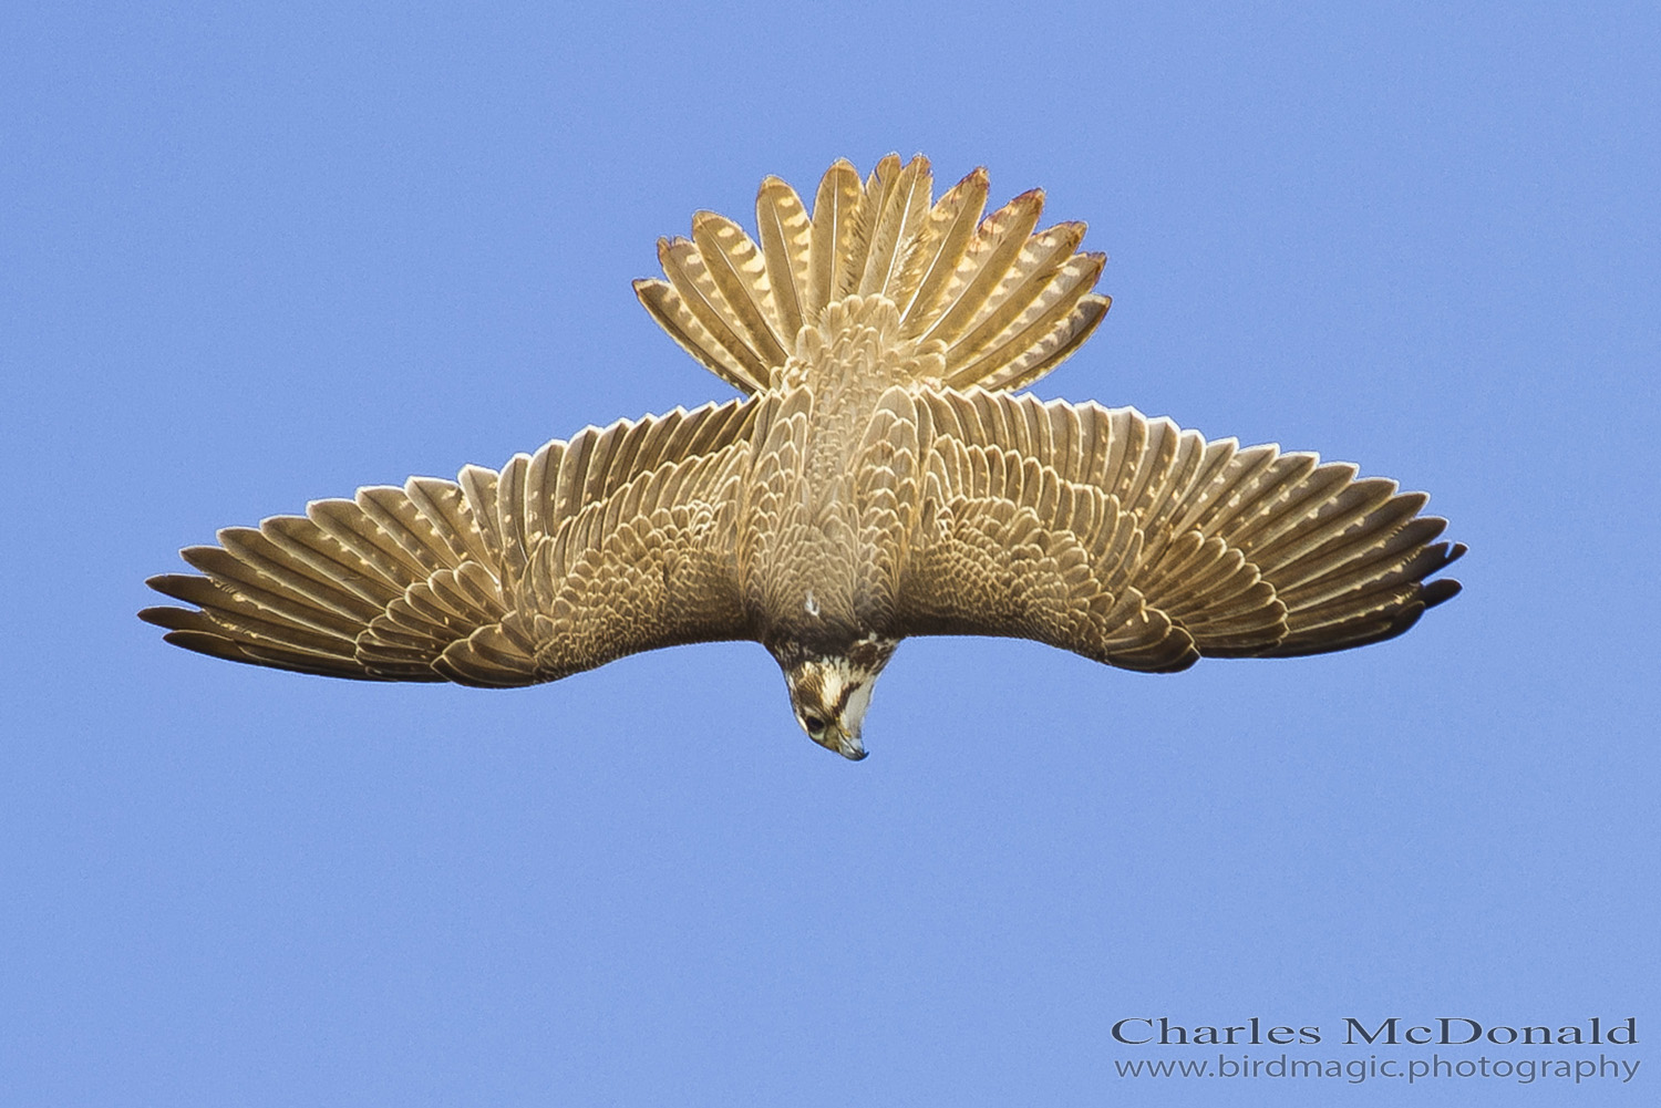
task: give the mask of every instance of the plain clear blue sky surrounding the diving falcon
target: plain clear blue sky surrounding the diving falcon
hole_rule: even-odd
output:
[[[0,13],[0,1101],[1654,1103],[1654,5],[563,7]],[[910,641],[857,766],[754,645],[480,693],[133,618],[218,527],[731,395],[656,238],[889,151],[1110,254],[1041,395],[1430,490],[1465,593],[1161,678]],[[1214,1058],[1161,1015],[1643,1066],[1118,1078]]]

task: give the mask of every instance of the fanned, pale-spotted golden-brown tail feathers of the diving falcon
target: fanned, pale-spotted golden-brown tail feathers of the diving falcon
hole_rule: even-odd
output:
[[[1036,231],[1043,193],[1022,193],[982,219],[987,171],[932,199],[928,159],[884,158],[864,181],[837,161],[812,214],[779,178],[756,198],[757,244],[701,211],[691,239],[663,239],[668,281],[636,281],[653,319],[742,392],[774,389],[797,334],[849,297],[885,297],[900,339],[938,342],[935,387],[1007,390],[1055,369],[1108,311],[1091,292],[1105,257],[1081,254],[1083,223]]]

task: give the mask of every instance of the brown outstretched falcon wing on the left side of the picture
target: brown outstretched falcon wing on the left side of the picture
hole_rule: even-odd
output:
[[[178,646],[369,681],[533,684],[747,638],[734,513],[757,402],[590,427],[500,472],[412,477],[219,532],[149,586]]]

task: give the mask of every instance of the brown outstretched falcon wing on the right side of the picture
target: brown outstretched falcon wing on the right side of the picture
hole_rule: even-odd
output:
[[[887,397],[892,405],[895,397]],[[1423,493],[1312,453],[1206,442],[1134,409],[988,392],[912,400],[930,444],[897,635],[1033,638],[1115,666],[1316,655],[1400,635],[1458,591]]]

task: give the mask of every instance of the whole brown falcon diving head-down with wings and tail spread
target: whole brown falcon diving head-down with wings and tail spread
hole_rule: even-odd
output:
[[[767,178],[756,238],[698,213],[635,284],[742,399],[224,528],[148,581],[191,606],[140,618],[231,661],[473,686],[752,640],[859,759],[912,635],[1169,673],[1377,643],[1458,591],[1427,580],[1465,548],[1425,493],[1018,392],[1101,322],[1105,259],[1038,229],[1038,189],[985,204],[983,169],[933,199],[922,156],[837,161],[812,211]]]

